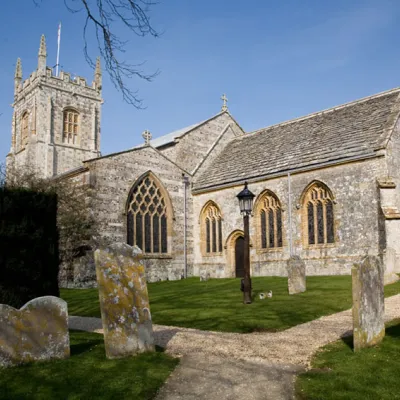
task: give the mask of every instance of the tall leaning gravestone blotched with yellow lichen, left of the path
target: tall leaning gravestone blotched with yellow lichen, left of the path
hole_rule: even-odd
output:
[[[154,351],[141,251],[125,243],[96,250],[96,275],[107,358]]]

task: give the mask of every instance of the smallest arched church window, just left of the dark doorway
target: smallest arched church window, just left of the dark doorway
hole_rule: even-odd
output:
[[[201,213],[202,251],[205,255],[222,253],[222,217],[218,206],[209,202]]]

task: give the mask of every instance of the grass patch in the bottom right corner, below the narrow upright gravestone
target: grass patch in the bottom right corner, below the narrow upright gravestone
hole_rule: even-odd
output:
[[[383,342],[354,353],[353,337],[322,348],[313,369],[296,382],[299,399],[400,399],[400,320],[386,328]]]

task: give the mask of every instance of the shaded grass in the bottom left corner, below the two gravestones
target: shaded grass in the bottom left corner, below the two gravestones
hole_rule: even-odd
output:
[[[0,371],[1,400],[152,399],[178,360],[157,351],[107,360],[103,336],[70,332],[71,357]]]

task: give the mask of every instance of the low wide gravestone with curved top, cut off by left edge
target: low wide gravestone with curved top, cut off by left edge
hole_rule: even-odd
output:
[[[64,300],[38,297],[19,310],[0,304],[0,366],[69,355],[68,307]]]

